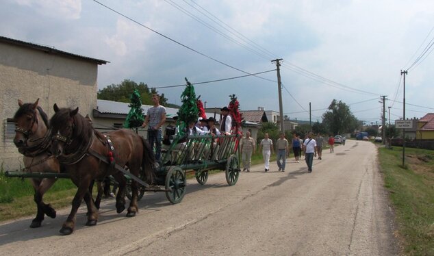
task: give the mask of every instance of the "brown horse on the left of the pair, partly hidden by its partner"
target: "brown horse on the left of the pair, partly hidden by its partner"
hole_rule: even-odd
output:
[[[16,121],[14,144],[18,151],[24,155],[25,172],[60,172],[60,164],[48,150],[51,146],[47,114],[35,103],[23,103],[18,99],[20,108],[14,115]],[[44,214],[55,218],[55,209],[42,201],[44,195],[56,179],[31,179],[35,190],[34,201],[38,207],[36,218],[31,221],[30,227],[40,227]]]

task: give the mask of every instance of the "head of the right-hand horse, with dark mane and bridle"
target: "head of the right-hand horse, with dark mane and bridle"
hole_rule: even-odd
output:
[[[64,147],[73,141],[78,107],[75,110],[61,109],[57,104],[54,104],[53,109],[55,114],[50,120],[51,152],[55,157],[59,157],[64,153]]]

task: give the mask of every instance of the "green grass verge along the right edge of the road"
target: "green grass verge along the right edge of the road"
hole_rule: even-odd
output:
[[[395,210],[405,255],[434,255],[434,152],[379,148],[385,188]]]

